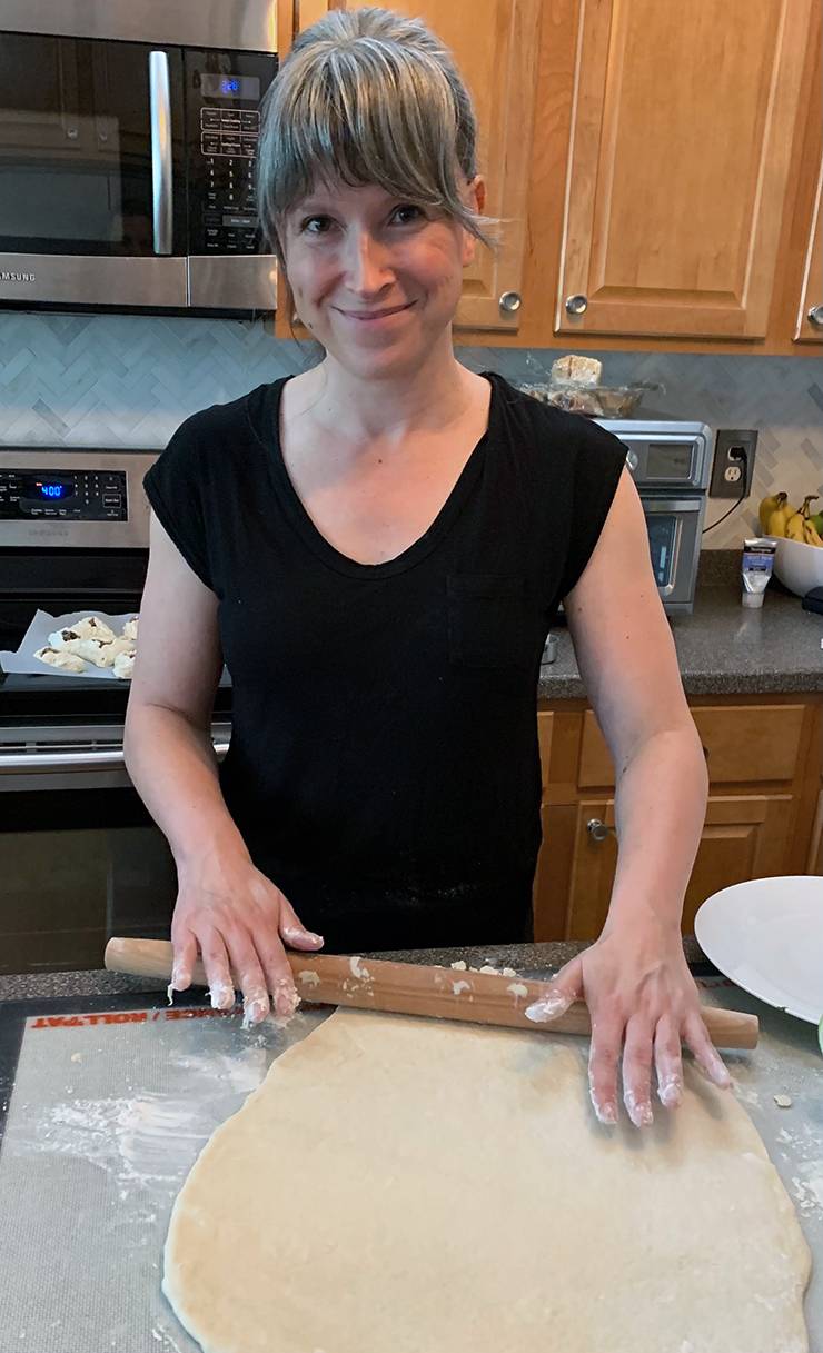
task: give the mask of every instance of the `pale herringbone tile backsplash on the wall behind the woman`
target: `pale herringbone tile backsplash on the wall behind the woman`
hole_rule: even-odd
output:
[[[537,380],[559,352],[462,348],[474,371]],[[598,353],[604,380],[659,382],[642,413],[757,428],[751,498],[707,537],[738,547],[757,503],[785,488],[823,497],[823,360],[816,357]],[[263,321],[141,315],[0,314],[0,444],[164,446],[190,413],[302,371],[311,345],[275,341]],[[708,522],[730,505],[711,502]]]

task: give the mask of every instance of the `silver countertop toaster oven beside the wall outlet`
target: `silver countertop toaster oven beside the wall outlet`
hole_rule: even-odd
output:
[[[625,446],[638,486],[651,566],[669,614],[688,614],[694,584],[712,469],[712,433],[705,423],[674,419],[604,419]]]

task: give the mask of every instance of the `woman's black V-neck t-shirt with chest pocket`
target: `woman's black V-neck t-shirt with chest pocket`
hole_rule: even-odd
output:
[[[345,557],[306,513],[280,451],[284,380],[188,418],[146,475],[219,599],[229,812],[328,948],[529,931],[540,655],[625,453],[485,375],[487,432],[425,534],[383,564]]]

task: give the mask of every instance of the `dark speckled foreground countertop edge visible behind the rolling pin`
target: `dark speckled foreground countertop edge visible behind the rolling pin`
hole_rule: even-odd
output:
[[[470,967],[514,967],[518,973],[548,974],[567,963],[570,958],[587,948],[589,942],[556,940],[543,944],[487,944],[474,948],[416,948],[394,954],[372,954],[372,958],[391,958],[402,963],[456,963]],[[705,955],[697,940],[688,935],[684,951],[689,963],[705,963]],[[162,992],[166,984],[152,977],[127,977],[125,973],[107,973],[104,969],[91,969],[83,973],[23,973],[20,976],[0,976],[0,1003],[28,1000],[58,1000],[66,996],[122,996],[129,992]]]

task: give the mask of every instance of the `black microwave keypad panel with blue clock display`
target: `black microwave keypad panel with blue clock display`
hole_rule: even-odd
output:
[[[190,252],[259,253],[254,168],[260,103],[277,58],[185,51]]]

